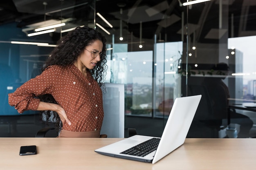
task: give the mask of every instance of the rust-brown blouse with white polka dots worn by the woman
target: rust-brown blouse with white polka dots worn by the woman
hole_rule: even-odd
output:
[[[102,91],[89,72],[85,78],[73,64],[49,66],[42,74],[10,93],[9,104],[15,106],[18,113],[37,110],[40,100],[36,96],[44,94],[51,94],[65,109],[72,124],[63,124],[64,130],[101,130],[104,115]]]

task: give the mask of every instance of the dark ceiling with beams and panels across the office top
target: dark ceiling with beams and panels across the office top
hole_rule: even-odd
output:
[[[1,1],[0,26],[15,22],[18,28],[23,29],[36,22],[65,18],[73,18],[70,23],[76,25],[93,24],[93,2],[94,0]],[[203,2],[188,9],[181,7],[179,0],[97,0],[96,12],[101,13],[114,26],[112,29],[108,28],[111,34],[119,32],[120,20],[122,20],[124,34],[132,34],[135,38],[140,36],[141,22],[142,38],[153,39],[154,35],[157,35],[159,40],[180,41],[182,12],[184,12],[184,35],[188,23],[188,34],[191,40],[195,39],[197,42],[219,42],[224,35],[226,37],[256,35],[256,0],[222,0],[222,3],[221,17],[219,0]],[[99,18],[96,20],[107,27]]]

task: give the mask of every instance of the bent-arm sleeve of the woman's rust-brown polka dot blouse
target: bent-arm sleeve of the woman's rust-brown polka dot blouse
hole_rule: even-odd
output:
[[[36,97],[52,93],[54,77],[55,69],[49,66],[43,73],[25,82],[13,93],[9,93],[9,105],[14,106],[18,113],[37,110],[40,100]]]

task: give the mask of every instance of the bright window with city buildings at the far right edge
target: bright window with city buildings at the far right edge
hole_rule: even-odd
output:
[[[255,47],[256,36],[229,38],[228,47],[231,49],[233,61],[235,61],[236,68],[231,73],[231,77],[241,80],[240,89],[236,89],[235,99],[245,99],[245,102],[251,100],[256,102],[256,74],[255,74]],[[240,93],[239,93],[240,92]],[[254,101],[255,100],[255,101]]]

